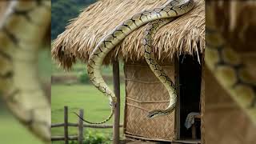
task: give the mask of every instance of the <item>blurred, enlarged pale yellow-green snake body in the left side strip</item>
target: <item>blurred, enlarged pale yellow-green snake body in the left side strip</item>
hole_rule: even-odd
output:
[[[38,82],[38,48],[50,1],[10,1],[0,23],[0,94],[23,125],[50,142],[50,102]]]

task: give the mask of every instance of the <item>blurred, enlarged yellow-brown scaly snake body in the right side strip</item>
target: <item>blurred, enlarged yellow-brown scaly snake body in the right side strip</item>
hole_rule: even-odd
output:
[[[214,12],[206,7],[206,66],[230,94],[231,98],[246,111],[256,123],[256,82],[238,52],[222,38],[214,24]]]

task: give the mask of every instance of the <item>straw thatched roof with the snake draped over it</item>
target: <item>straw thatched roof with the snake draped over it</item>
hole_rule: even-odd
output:
[[[83,10],[66,30],[58,35],[52,50],[53,58],[65,69],[70,69],[77,58],[86,62],[97,43],[119,23],[143,10],[162,6],[167,0],[101,0]],[[196,6],[188,14],[170,22],[158,31],[154,49],[159,60],[172,58],[174,54],[200,53],[205,48],[205,6],[203,0],[195,0]],[[125,61],[142,60],[142,38],[146,26],[127,36],[104,60],[113,58]]]

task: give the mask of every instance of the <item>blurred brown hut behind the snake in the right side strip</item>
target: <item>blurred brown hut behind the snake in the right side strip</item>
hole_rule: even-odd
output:
[[[256,50],[254,49],[256,18],[256,2],[212,2],[206,10],[214,13],[215,25],[222,32],[223,38],[230,46],[241,54],[250,74],[256,79]],[[207,4],[206,4],[207,5]],[[206,11],[206,18],[210,17]],[[206,40],[207,41],[207,40]],[[205,69],[206,85],[205,115],[202,118],[207,144],[250,144],[256,140],[256,126],[238,106],[222,86]]]

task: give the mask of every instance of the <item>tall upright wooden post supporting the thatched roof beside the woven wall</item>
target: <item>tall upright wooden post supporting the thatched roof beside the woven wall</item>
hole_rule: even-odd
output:
[[[119,123],[120,123],[120,77],[119,77],[119,62],[113,62],[113,81],[114,94],[117,97],[117,106],[114,110],[114,126],[113,126],[113,143],[119,143]]]

